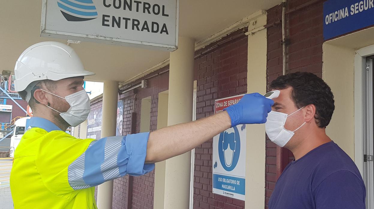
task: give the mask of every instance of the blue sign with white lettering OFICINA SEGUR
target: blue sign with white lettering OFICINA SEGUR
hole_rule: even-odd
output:
[[[374,0],[328,0],[324,3],[324,39],[374,25]]]

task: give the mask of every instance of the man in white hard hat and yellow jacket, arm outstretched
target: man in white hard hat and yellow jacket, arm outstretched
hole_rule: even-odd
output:
[[[15,65],[15,89],[33,109],[10,174],[15,208],[97,208],[94,187],[144,175],[154,162],[185,153],[227,128],[266,122],[273,100],[247,94],[214,116],[151,133],[77,139],[65,132],[87,119],[90,100],[74,50],[58,42],[26,49]]]

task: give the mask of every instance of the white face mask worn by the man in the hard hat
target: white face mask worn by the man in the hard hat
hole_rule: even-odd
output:
[[[40,89],[47,93],[49,91]],[[56,94],[50,93],[56,97],[60,97]],[[78,91],[74,94],[70,94],[68,96],[60,97],[61,99],[65,99],[67,103],[69,103],[70,108],[66,112],[59,112],[58,110],[53,109],[50,106],[50,109],[55,110],[56,112],[60,113],[60,116],[72,127],[76,127],[77,125],[83,123],[90,113],[91,110],[91,102],[90,98],[88,97],[86,90]]]

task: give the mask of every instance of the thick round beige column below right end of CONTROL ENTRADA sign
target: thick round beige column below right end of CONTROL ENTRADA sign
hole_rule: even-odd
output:
[[[193,39],[179,37],[178,50],[170,53],[168,125],[192,121],[194,50]],[[166,160],[165,209],[188,209],[190,168],[190,152]]]

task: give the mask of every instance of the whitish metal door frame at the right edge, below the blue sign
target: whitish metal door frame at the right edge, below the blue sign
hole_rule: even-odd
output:
[[[355,163],[366,186],[366,206],[374,209],[373,156],[373,57],[374,45],[355,52]]]

